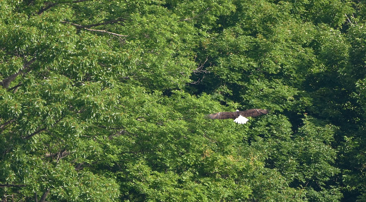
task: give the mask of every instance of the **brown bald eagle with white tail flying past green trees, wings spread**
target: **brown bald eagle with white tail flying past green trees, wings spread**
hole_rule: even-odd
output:
[[[234,119],[234,122],[244,124],[249,121],[246,117],[257,117],[262,114],[268,114],[268,110],[250,109],[245,111],[236,110],[235,112],[218,112],[208,114],[208,117],[210,119]]]

